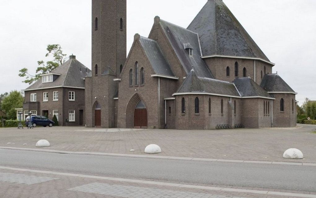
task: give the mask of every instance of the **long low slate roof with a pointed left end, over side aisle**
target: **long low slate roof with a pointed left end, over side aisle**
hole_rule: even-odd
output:
[[[240,96],[233,83],[198,77],[194,70],[191,70],[176,93],[214,93]]]

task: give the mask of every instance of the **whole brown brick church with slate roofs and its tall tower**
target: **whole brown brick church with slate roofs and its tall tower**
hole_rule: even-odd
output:
[[[87,127],[293,127],[295,91],[222,0],[187,28],[154,18],[126,58],[126,0],[92,0]]]

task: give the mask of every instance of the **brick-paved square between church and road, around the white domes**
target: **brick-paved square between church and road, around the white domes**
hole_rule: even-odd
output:
[[[158,144],[157,156],[233,160],[316,163],[316,125],[296,129],[229,130],[115,130],[85,127],[0,128],[0,146],[37,148],[40,139],[51,146],[41,149],[148,155],[144,149]],[[7,143],[12,144],[7,144]],[[23,145],[27,144],[27,145]],[[305,159],[284,159],[289,148],[300,149]],[[134,152],[130,152],[134,149]]]

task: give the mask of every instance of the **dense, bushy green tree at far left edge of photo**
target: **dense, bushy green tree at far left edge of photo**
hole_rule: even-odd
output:
[[[2,100],[1,108],[7,114],[8,119],[16,118],[15,108],[23,107],[24,98],[18,91],[11,91],[7,97]]]

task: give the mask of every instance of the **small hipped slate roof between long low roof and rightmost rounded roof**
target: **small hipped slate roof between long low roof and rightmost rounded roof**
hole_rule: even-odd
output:
[[[258,96],[272,98],[269,93],[249,77],[237,78],[234,84],[242,97]]]

